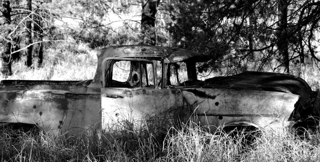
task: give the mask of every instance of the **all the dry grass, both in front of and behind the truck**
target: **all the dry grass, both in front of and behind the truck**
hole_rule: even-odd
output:
[[[62,50],[61,50],[62,49]],[[44,56],[44,67],[26,68],[21,61],[12,65],[13,75],[0,79],[28,80],[85,80],[92,79],[96,66],[96,52],[86,45],[61,45],[49,48]],[[76,53],[76,54],[75,54]],[[36,61],[35,61],[36,62]],[[314,89],[319,89],[319,69],[310,64],[302,70],[304,78]],[[163,118],[162,120],[166,120]],[[161,122],[160,122],[161,123]],[[159,125],[126,130],[121,137],[83,134],[76,141],[64,135],[46,136],[43,132],[14,136],[2,130],[0,136],[1,161],[28,162],[311,162],[320,161],[320,134],[308,138],[291,134],[262,132],[255,141],[243,144],[242,138],[228,134],[207,132],[192,121],[178,127]]]

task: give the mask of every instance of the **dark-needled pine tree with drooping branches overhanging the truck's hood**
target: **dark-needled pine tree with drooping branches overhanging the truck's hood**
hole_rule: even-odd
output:
[[[225,67],[227,74],[289,67],[313,57],[319,29],[319,2],[311,0],[187,0],[172,6],[169,32],[175,45],[212,54],[199,70]],[[253,56],[253,57],[252,57]],[[298,62],[298,64],[297,64]]]

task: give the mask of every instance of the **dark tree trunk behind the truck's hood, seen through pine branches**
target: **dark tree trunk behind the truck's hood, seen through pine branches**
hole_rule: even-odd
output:
[[[279,0],[278,2],[278,41],[277,46],[279,50],[279,56],[284,60],[284,66],[286,68],[286,72],[289,73],[289,53],[288,53],[288,38],[287,38],[287,10],[288,10],[288,2],[287,0]]]

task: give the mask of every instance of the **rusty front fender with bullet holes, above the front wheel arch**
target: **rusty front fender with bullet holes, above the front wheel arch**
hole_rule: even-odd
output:
[[[185,88],[182,94],[200,121],[213,130],[234,122],[286,127],[299,101],[299,95],[255,90]]]

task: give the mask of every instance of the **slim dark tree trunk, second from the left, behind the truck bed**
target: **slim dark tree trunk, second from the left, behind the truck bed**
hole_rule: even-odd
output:
[[[29,11],[27,14],[29,15],[31,13],[31,0],[27,0],[27,10]],[[29,19],[27,20],[26,27],[27,27],[27,32],[26,32],[26,37],[27,37],[27,43],[28,45],[32,44],[32,35],[31,35],[31,15],[29,16]],[[33,46],[30,45],[27,48],[27,66],[30,67],[32,65],[32,48]]]

